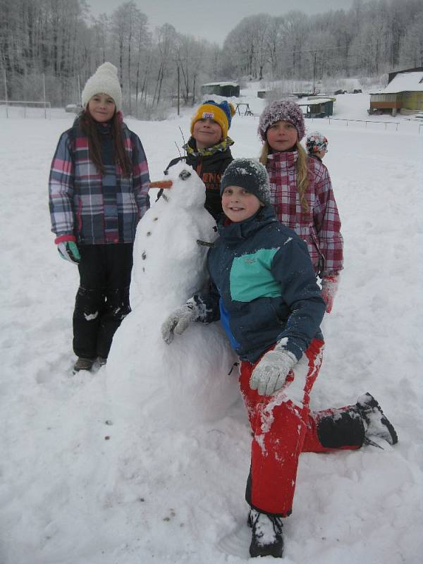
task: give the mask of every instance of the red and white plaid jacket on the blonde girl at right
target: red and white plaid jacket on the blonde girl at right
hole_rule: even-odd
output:
[[[343,238],[328,169],[317,159],[308,159],[308,211],[303,212],[297,190],[297,159],[297,151],[269,154],[266,168],[276,217],[305,240],[317,274],[338,273],[343,268]]]

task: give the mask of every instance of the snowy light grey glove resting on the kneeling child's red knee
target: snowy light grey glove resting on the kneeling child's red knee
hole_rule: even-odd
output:
[[[276,348],[263,355],[252,371],[250,388],[257,390],[259,396],[271,396],[282,388],[288,372],[297,362],[293,353],[276,345]]]

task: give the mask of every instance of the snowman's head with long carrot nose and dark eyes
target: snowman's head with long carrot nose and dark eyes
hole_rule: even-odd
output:
[[[192,166],[179,162],[168,169],[166,179],[150,183],[150,188],[163,188],[161,197],[172,207],[202,209],[206,187]]]

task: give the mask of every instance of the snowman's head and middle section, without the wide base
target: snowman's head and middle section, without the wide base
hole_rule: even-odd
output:
[[[206,257],[216,222],[204,209],[202,180],[185,163],[173,166],[154,206],[140,221],[134,245],[134,278],[145,300],[184,302],[204,286]],[[180,304],[179,304],[180,305]]]

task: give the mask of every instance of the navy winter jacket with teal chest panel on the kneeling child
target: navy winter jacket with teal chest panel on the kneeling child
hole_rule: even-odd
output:
[[[276,341],[300,360],[319,329],[325,305],[307,245],[276,221],[271,206],[219,225],[209,250],[210,288],[195,295],[197,321],[221,320],[241,360],[255,362]]]

